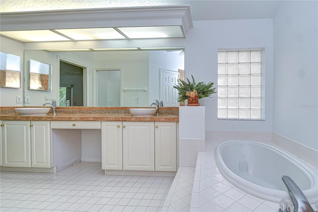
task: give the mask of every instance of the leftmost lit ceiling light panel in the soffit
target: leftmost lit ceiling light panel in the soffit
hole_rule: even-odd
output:
[[[50,30],[3,31],[0,34],[22,42],[70,41]]]

